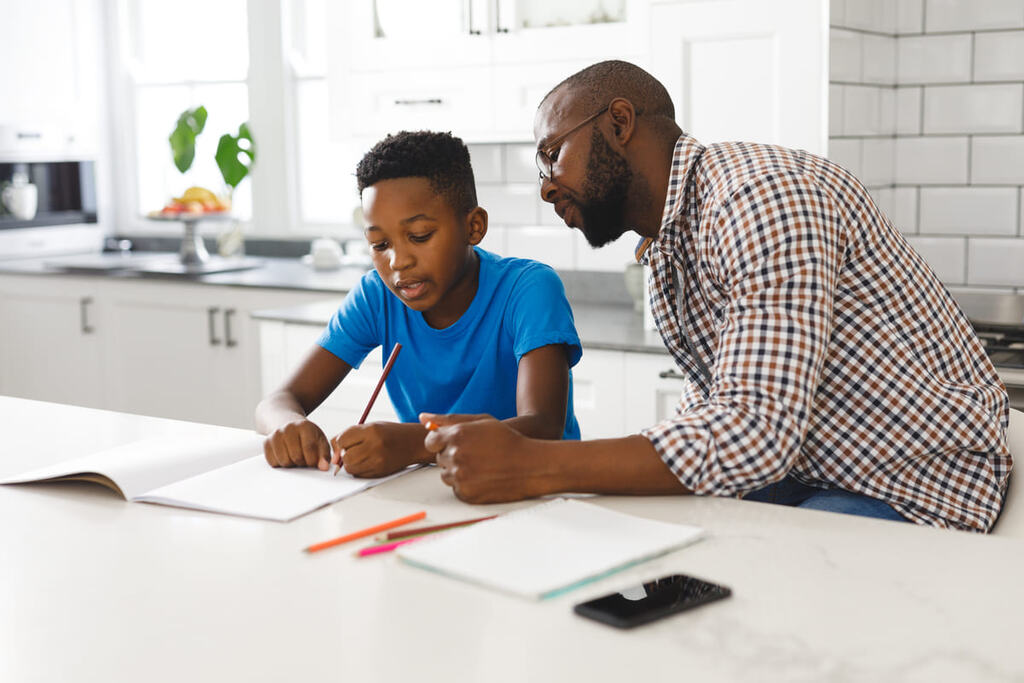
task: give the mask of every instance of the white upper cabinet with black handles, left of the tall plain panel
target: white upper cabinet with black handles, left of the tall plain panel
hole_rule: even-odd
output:
[[[532,139],[561,79],[607,58],[645,62],[644,0],[354,0],[329,54],[336,137],[451,130],[471,142]]]

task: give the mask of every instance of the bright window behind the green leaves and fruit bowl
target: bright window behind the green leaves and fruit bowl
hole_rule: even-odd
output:
[[[159,209],[189,185],[226,193],[214,154],[223,133],[237,133],[249,120],[246,0],[125,0],[119,10],[124,39],[118,75],[127,84],[121,114],[129,130],[115,144],[128,142],[121,184],[134,188],[118,193],[118,201],[134,205],[122,206],[122,217]],[[173,164],[168,135],[181,112],[201,104],[209,118],[193,166],[182,175]],[[234,215],[250,218],[248,179],[232,199]]]

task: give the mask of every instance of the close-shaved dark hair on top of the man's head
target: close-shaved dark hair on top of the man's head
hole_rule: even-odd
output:
[[[625,97],[645,115],[676,118],[669,91],[657,79],[629,61],[611,59],[591,65],[551,89],[540,106],[555,92],[565,90],[573,109],[596,112],[615,97]]]

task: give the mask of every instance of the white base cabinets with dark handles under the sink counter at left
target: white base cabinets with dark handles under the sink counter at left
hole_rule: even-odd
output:
[[[250,312],[341,294],[0,275],[0,394],[251,428]]]

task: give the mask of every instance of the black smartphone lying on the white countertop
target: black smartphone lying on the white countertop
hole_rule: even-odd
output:
[[[732,591],[725,586],[675,573],[581,602],[572,610],[620,629],[632,629],[730,595]]]

